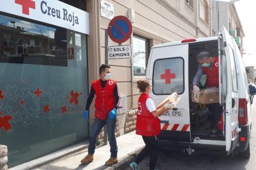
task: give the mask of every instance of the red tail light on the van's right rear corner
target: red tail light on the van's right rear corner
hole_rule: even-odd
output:
[[[239,115],[238,115],[238,122],[239,122],[239,125],[248,124],[248,117],[247,117],[247,100],[246,100],[246,99],[239,99]]]

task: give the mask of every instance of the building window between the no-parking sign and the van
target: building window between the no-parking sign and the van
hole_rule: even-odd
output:
[[[145,76],[148,62],[148,39],[133,38],[134,76]]]

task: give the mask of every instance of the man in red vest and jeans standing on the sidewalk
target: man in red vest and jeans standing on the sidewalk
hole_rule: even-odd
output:
[[[93,161],[93,154],[95,152],[96,137],[100,134],[103,126],[107,127],[108,140],[110,145],[111,156],[106,161],[106,166],[111,166],[118,162],[117,160],[117,144],[116,144],[116,109],[119,105],[119,94],[116,81],[110,79],[111,70],[108,65],[101,65],[100,79],[93,81],[90,94],[88,95],[85,112],[83,116],[88,118],[88,109],[92,103],[93,97],[95,99],[95,119],[92,130],[90,132],[88,155],[81,160],[82,164],[87,164]]]

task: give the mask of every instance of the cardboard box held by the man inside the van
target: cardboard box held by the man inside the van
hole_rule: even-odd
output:
[[[209,104],[209,103],[218,103],[219,102],[219,89],[211,88],[200,91],[200,95],[198,97],[198,102],[194,99],[194,92],[192,90],[192,102],[201,103],[201,104]]]

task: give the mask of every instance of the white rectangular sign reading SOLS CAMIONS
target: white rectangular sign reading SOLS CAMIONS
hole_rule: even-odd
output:
[[[109,46],[108,59],[129,59],[132,57],[132,46]]]

